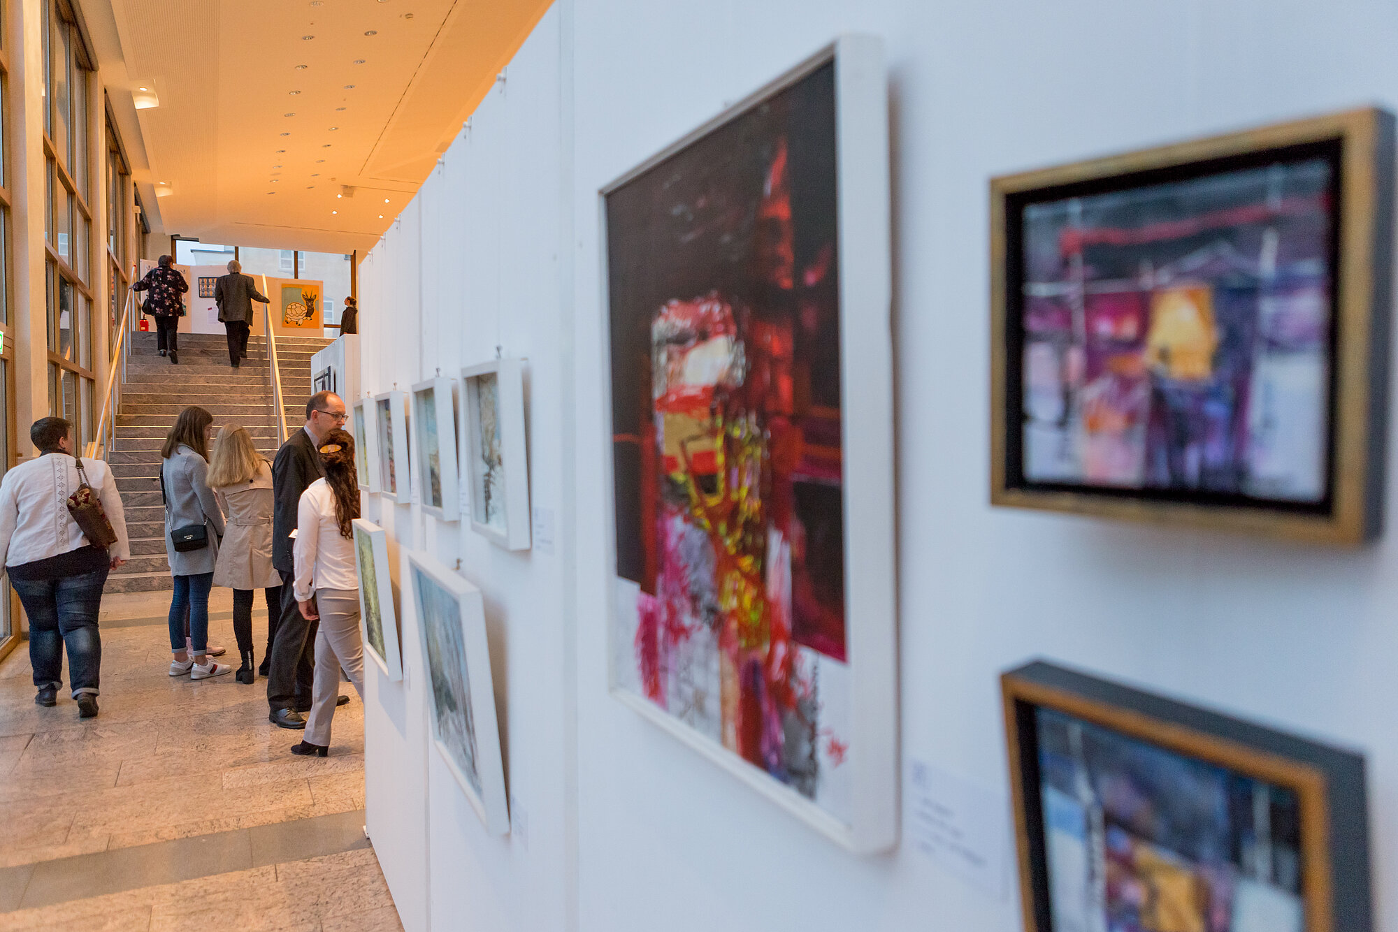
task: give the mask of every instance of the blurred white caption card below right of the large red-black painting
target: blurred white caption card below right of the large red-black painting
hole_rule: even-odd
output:
[[[948,873],[1005,897],[1005,801],[921,760],[909,760],[907,838]]]

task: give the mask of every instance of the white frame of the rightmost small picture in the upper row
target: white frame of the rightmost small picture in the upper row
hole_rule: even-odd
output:
[[[495,387],[495,465],[488,471],[482,401]],[[493,472],[493,475],[491,475]],[[524,361],[492,359],[461,369],[461,482],[470,502],[471,530],[506,551],[533,545],[530,525],[528,442],[524,421]],[[499,503],[499,510],[492,502]]]

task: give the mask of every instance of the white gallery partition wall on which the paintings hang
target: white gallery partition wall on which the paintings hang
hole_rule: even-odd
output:
[[[925,763],[1008,812],[998,673],[1046,657],[1124,679],[1366,753],[1376,928],[1398,932],[1398,496],[1359,551],[988,506],[988,179],[1398,109],[1398,7],[1297,0],[559,0],[361,267],[366,391],[528,358],[554,531],[509,553],[366,496],[394,559],[460,558],[485,594],[516,819],[488,837],[428,748],[404,599],[404,682],[372,673],[366,703],[369,827],[404,925],[1021,928],[1008,829],[984,843],[998,893],[907,838],[850,855],[607,690],[597,190],[844,31],[882,36],[889,64],[905,788]]]

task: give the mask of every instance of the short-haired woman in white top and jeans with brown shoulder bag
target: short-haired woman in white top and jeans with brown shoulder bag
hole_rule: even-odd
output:
[[[73,458],[73,425],[39,418],[29,428],[39,456],[0,481],[0,566],[29,616],[29,661],[38,706],[53,706],[63,685],[63,648],[78,717],[96,715],[102,636],[98,613],[106,574],[131,559],[116,479],[102,460],[84,460],[82,472],[102,502],[116,544],[96,546],[69,514],[69,496],[81,476]]]

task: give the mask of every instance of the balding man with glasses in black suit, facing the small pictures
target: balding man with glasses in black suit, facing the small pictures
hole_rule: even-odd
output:
[[[305,728],[301,713],[310,708],[310,685],[315,672],[312,654],[316,643],[316,623],[306,620],[296,605],[292,578],[296,565],[292,556],[292,532],[296,530],[296,507],[301,493],[322,478],[320,454],[316,447],[334,428],[344,426],[345,402],[333,391],[317,391],[306,402],[306,425],[296,430],[277,450],[271,464],[273,509],[271,565],[281,573],[281,619],[271,634],[271,662],[267,665],[268,718],[281,728]]]

